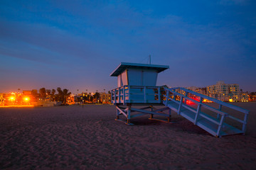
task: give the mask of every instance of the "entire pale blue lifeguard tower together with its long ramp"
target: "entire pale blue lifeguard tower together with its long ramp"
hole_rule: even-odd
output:
[[[182,87],[169,89],[166,86],[156,86],[157,75],[166,69],[169,69],[169,66],[127,62],[121,62],[114,69],[110,76],[117,77],[117,89],[111,91],[111,101],[117,108],[116,120],[133,125],[132,118],[150,115],[150,119],[155,119],[154,115],[161,115],[167,118],[166,122],[170,122],[171,111],[174,111],[216,137],[245,134],[247,115],[250,111]],[[218,107],[203,103],[205,100],[215,103]],[[193,106],[188,103],[193,103]],[[228,111],[231,113],[227,113]],[[242,115],[235,117],[233,112]],[[121,115],[124,115],[126,120],[121,119]],[[233,125],[230,125],[232,123]]]

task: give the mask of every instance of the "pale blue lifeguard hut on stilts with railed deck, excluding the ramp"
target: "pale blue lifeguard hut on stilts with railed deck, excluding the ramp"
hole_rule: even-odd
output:
[[[132,125],[131,118],[149,114],[163,115],[170,120],[171,111],[168,107],[156,109],[153,106],[162,105],[161,86],[156,86],[157,74],[169,69],[166,65],[156,64],[136,64],[121,62],[114,69],[110,77],[117,77],[117,89],[111,91],[112,103],[117,108],[117,119],[121,120],[120,115],[124,115],[127,120],[121,120]],[[144,108],[133,108],[133,106],[146,106]],[[149,111],[148,111],[149,110]],[[169,110],[168,114],[162,111]],[[132,112],[139,114],[132,115]]]

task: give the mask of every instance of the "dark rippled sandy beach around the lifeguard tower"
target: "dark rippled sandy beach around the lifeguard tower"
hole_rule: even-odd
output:
[[[110,105],[0,108],[0,169],[255,169],[256,103],[246,135],[213,137],[175,123],[115,121]]]

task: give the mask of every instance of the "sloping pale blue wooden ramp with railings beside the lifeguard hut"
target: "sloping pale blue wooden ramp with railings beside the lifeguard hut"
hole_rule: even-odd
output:
[[[180,94],[178,91],[182,91],[183,94]],[[184,118],[188,119],[194,125],[198,125],[200,128],[203,128],[203,130],[206,130],[211,135],[214,135],[216,137],[221,137],[224,135],[235,135],[235,134],[245,134],[245,126],[247,123],[247,115],[249,111],[239,108],[237,106],[230,105],[229,103],[224,103],[222,101],[218,101],[215,98],[210,98],[208,96],[204,96],[203,94],[198,94],[194,91],[189,91],[188,89],[183,88],[174,88],[174,89],[165,89],[166,90],[166,100],[163,101],[164,105],[169,107],[172,111],[175,111],[178,113],[178,115],[182,115]],[[196,101],[193,98],[189,98],[188,94],[190,96],[198,96],[200,98],[199,101]],[[176,96],[179,96],[180,100],[176,100]],[[203,103],[203,98],[208,99],[209,101],[213,101],[215,103],[219,104],[219,108],[212,108],[205,103]],[[186,104],[186,101],[191,101],[193,103],[197,104],[197,108],[193,108]],[[225,113],[221,111],[222,106],[226,106],[228,108],[233,108],[236,111],[240,111],[241,113],[245,113],[244,120],[240,120],[238,118],[233,117],[232,115],[229,115],[228,113]],[[201,111],[201,108],[207,108],[210,111],[213,111],[216,113],[216,118],[213,116],[208,115],[207,113],[203,113]],[[225,123],[225,118],[232,118],[233,120],[238,121],[239,123],[242,123],[242,130],[233,127],[232,125],[228,125],[228,123]]]

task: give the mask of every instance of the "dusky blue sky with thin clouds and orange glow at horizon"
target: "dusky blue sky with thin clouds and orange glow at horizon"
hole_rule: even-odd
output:
[[[157,85],[256,91],[256,1],[0,1],[0,92],[109,91],[120,62]]]

